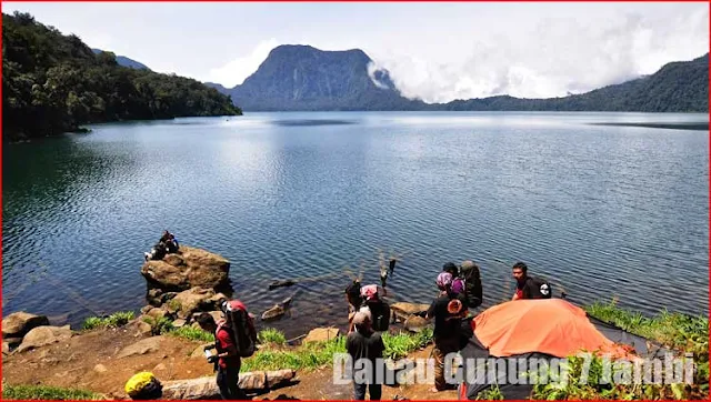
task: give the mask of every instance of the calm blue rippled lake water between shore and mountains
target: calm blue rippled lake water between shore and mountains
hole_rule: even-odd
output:
[[[394,301],[429,303],[442,264],[472,259],[491,305],[521,260],[573,302],[708,314],[709,131],[610,122],[708,115],[249,113],[3,145],[2,312],[138,311],[169,229],[228,258],[252,312],[294,295],[269,324],[289,335],[344,326],[346,267],[377,283],[380,252],[401,255]]]

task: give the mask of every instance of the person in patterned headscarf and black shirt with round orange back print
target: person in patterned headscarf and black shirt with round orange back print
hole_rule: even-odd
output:
[[[452,274],[440,272],[437,277],[439,297],[427,311],[425,319],[434,319],[434,388],[431,392],[444,391],[444,359],[460,349],[462,318],[467,315],[467,306],[462,293],[451,292]]]

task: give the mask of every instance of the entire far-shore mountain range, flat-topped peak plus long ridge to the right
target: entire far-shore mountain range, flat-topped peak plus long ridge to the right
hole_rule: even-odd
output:
[[[454,110],[707,112],[709,54],[672,62],[651,76],[564,98],[509,96],[428,104],[400,94],[387,70],[372,71],[358,49],[322,51],[309,46],[274,48],[241,86],[227,89],[247,111]],[[370,69],[369,69],[370,68]],[[372,74],[369,74],[369,71]]]

